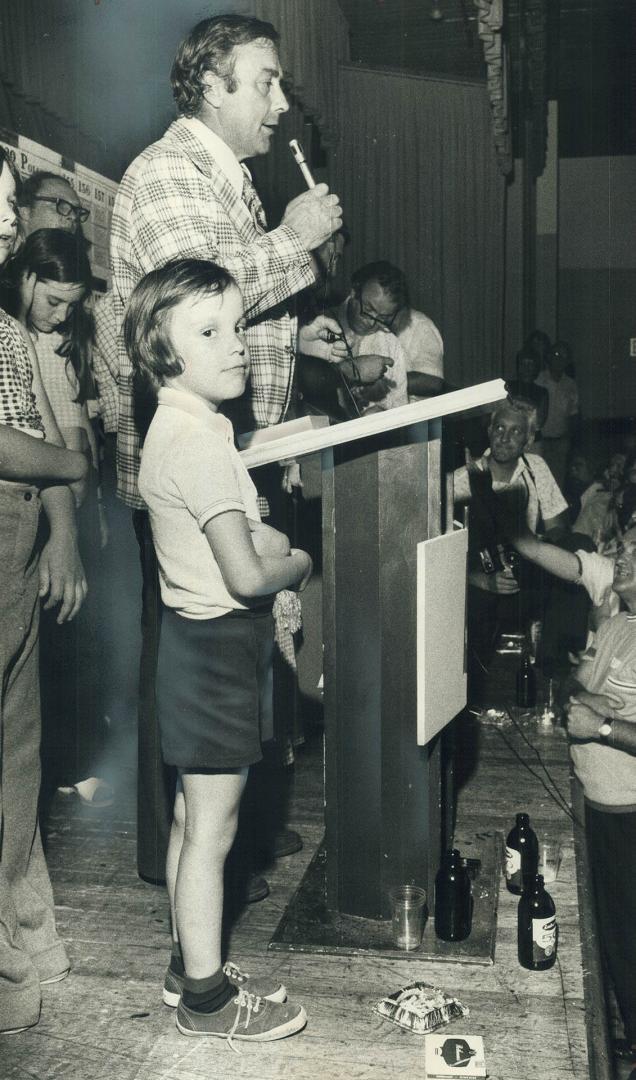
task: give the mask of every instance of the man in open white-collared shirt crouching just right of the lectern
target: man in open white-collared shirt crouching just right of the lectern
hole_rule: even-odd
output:
[[[543,459],[527,453],[536,423],[536,410],[528,402],[517,399],[502,402],[490,418],[489,448],[471,463],[470,470],[462,465],[455,473],[456,502],[472,503],[468,620],[469,696],[473,700],[483,689],[502,618],[514,620],[525,630],[530,619],[543,617],[546,607],[547,582],[538,576],[534,567],[520,562],[513,572],[513,561],[506,551],[498,551],[505,538],[492,516],[488,491],[518,489],[530,531],[569,546],[566,500]],[[559,588],[572,590],[567,605],[569,622],[583,634],[587,610],[585,594],[576,586],[561,584]],[[554,605],[555,610],[556,607]],[[556,631],[549,633],[550,620],[546,621],[544,643],[551,640],[553,652]]]

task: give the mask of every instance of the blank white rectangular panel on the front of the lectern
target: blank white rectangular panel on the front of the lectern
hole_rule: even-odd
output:
[[[468,531],[418,544],[418,744],[423,746],[466,703]]]

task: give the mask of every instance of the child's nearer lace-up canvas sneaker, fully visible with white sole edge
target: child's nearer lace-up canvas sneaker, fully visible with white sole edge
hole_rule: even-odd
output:
[[[177,1028],[181,1035],[246,1042],[272,1042],[300,1031],[307,1024],[302,1005],[266,1001],[247,990],[239,990],[222,1009],[213,1013],[195,1012],[182,1001],[177,1005]],[[232,1047],[232,1049],[234,1049]]]

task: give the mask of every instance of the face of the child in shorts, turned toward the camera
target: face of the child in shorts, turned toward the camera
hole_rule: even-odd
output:
[[[181,300],[168,316],[168,337],[185,369],[166,379],[201,397],[213,411],[240,397],[249,374],[243,298],[234,286]]]

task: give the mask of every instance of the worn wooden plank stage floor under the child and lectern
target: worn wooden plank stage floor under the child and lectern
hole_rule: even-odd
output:
[[[551,971],[537,974],[519,967],[517,902],[504,887],[491,967],[267,953],[322,836],[317,737],[296,767],[290,824],[302,833],[305,849],[268,873],[271,895],[245,910],[231,942],[232,958],[247,971],[275,971],[290,997],[305,1004],[306,1030],[281,1042],[243,1044],[242,1056],[221,1041],[188,1040],[177,1032],[174,1013],[161,1003],[170,949],[166,895],[135,873],[134,781],[128,774],[111,809],[91,811],[59,797],[54,802],[49,861],[72,973],[43,988],[37,1028],[0,1040],[1,1080],[416,1080],[424,1075],[421,1038],[373,1012],[384,994],[414,978],[435,983],[470,1008],[470,1017],[448,1030],[484,1036],[491,1080],[585,1080],[571,823],[515,757],[516,751],[540,772],[518,733],[505,732],[512,748],[493,729],[468,733],[476,735],[478,753],[459,795],[458,839],[465,853],[478,854],[481,836],[506,831],[514,813],[525,809],[537,827],[549,827],[564,841],[561,872],[552,889],[560,941],[558,963]],[[561,792],[568,792],[563,733],[541,737],[529,728],[528,734]]]

